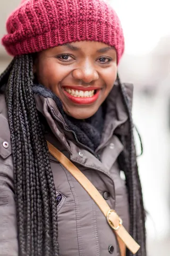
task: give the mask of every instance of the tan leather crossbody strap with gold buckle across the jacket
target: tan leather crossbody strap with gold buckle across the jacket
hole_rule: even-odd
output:
[[[135,254],[140,246],[137,244],[130,234],[123,227],[120,217],[117,213],[112,210],[109,205],[106,203],[103,196],[100,195],[99,191],[95,188],[94,185],[87,179],[87,177],[64,155],[55,148],[52,144],[47,141],[49,153],[52,154],[72,175],[81,186],[87,191],[87,193],[94,199],[95,203],[100,208],[101,212],[105,215],[108,224],[114,230],[116,238],[120,247],[121,256],[125,256],[126,247]]]

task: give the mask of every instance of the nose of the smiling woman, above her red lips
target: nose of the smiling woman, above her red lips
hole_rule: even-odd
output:
[[[83,62],[80,67],[72,71],[72,76],[84,83],[96,81],[99,78],[98,72],[89,61]]]

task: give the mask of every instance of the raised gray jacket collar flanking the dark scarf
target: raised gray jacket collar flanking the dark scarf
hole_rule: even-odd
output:
[[[129,106],[132,108],[133,85],[123,84],[123,86],[128,94]],[[54,93],[41,85],[33,87],[33,92],[37,110],[46,118],[55,137],[63,144],[65,149],[69,150],[69,153],[71,153],[72,150],[68,139],[73,141],[75,138],[74,135],[69,132],[69,128],[61,114],[60,100]],[[126,135],[129,131],[128,114],[126,113],[120,87],[117,83],[115,83],[111,93],[109,93],[106,99],[106,106],[104,132],[100,146],[96,149],[96,153],[106,145],[113,134]]]

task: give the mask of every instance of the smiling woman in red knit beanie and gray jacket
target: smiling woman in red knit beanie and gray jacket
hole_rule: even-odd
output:
[[[132,86],[117,77],[124,37],[116,13],[101,0],[25,0],[6,27],[2,43],[14,59],[0,78],[0,255],[120,255],[103,213],[48,153],[48,140],[145,256]]]

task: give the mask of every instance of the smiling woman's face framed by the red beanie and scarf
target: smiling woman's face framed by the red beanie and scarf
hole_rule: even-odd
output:
[[[112,90],[116,51],[100,42],[81,41],[38,53],[34,72],[40,84],[52,90],[66,114],[86,119],[96,113]]]

